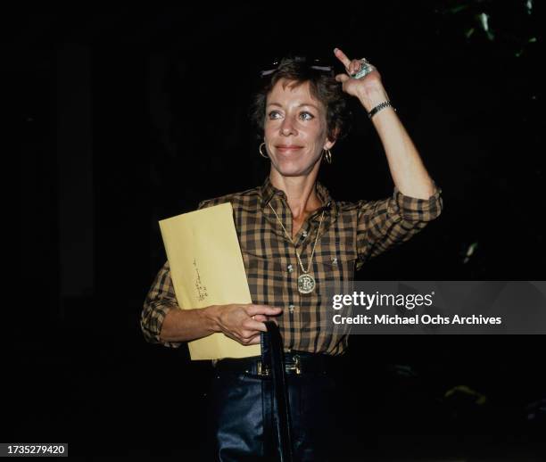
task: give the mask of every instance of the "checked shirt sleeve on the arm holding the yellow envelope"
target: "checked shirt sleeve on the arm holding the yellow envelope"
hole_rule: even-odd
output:
[[[163,320],[170,309],[179,308],[170,279],[169,261],[166,261],[155,276],[152,287],[146,296],[140,318],[140,327],[146,342],[161,343],[170,348],[178,348],[183,343],[163,342],[160,339],[161,326],[163,326]]]

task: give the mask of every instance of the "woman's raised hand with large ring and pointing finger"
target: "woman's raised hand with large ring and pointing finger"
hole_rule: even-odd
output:
[[[374,66],[368,63],[368,66],[371,66],[373,70],[366,77],[352,78],[350,76],[360,70],[362,61],[350,60],[339,48],[335,48],[334,54],[343,63],[347,71],[346,74],[337,74],[335,76],[335,80],[342,83],[342,89],[346,94],[359,98],[368,111],[372,109],[377,101],[382,102],[388,99],[381,82],[381,74]],[[368,106],[372,107],[368,108]]]

